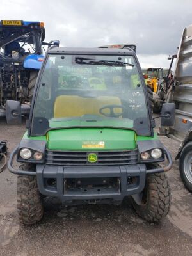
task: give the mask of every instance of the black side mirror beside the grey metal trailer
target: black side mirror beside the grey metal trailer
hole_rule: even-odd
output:
[[[161,115],[161,126],[173,126],[175,122],[175,103],[164,103]]]

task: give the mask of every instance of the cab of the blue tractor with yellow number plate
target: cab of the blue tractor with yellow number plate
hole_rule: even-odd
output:
[[[44,22],[22,20],[0,22],[0,47],[1,54],[5,57],[19,58],[27,54],[42,54],[44,39]]]

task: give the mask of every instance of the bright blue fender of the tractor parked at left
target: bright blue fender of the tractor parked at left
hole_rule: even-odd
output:
[[[24,60],[24,68],[40,69],[42,62],[44,61],[43,55],[31,54]]]

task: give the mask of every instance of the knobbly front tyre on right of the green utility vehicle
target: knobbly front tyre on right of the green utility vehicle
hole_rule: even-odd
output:
[[[141,218],[150,222],[161,221],[168,214],[171,205],[171,192],[166,174],[147,175],[142,204],[138,205],[134,200],[132,204]]]

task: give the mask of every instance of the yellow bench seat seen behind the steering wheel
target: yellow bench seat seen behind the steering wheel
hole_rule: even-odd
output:
[[[115,96],[83,98],[76,95],[60,95],[54,102],[54,118],[102,115],[99,109],[111,104],[120,105],[121,101]],[[119,111],[119,108],[114,108],[115,113]],[[104,109],[104,112],[109,113],[109,109]]]

